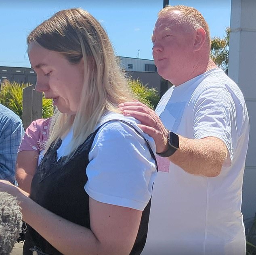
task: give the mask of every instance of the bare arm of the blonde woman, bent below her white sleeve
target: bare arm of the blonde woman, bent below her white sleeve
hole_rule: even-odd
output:
[[[90,198],[89,230],[44,209],[9,182],[0,181],[0,190],[17,196],[25,222],[65,255],[128,255],[133,247],[141,211]]]

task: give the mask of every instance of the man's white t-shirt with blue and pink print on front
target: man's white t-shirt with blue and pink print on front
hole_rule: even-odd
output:
[[[170,88],[157,115],[173,132],[225,142],[229,157],[214,178],[192,175],[157,157],[143,255],[244,255],[242,182],[249,138],[245,101],[221,69]]]

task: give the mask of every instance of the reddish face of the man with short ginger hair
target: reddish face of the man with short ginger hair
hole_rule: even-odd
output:
[[[177,24],[177,13],[159,17],[153,30],[153,59],[159,75],[175,86],[185,82],[188,61],[193,56],[193,31]],[[193,58],[192,58],[193,59]]]

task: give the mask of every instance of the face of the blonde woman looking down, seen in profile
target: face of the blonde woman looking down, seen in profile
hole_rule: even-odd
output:
[[[51,98],[61,113],[76,114],[84,84],[84,61],[70,64],[59,52],[35,42],[28,45],[31,68],[37,74],[36,90]]]

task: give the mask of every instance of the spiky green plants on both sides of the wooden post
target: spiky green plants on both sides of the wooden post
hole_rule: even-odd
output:
[[[9,82],[7,80],[4,80],[1,85],[0,104],[14,111],[22,119],[23,89],[27,88],[30,85],[31,84],[29,83],[19,84],[17,82]],[[42,105],[43,118],[51,117],[53,114],[52,100],[43,97]]]

